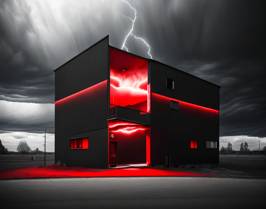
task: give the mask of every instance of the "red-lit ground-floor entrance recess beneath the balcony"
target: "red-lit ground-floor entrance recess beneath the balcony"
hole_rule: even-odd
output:
[[[150,163],[150,127],[126,121],[109,123],[109,142],[117,142],[118,164]],[[110,138],[110,134],[114,137]]]

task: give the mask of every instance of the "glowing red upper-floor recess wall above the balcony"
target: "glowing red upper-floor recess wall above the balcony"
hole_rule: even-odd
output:
[[[110,49],[110,104],[149,112],[148,61]]]

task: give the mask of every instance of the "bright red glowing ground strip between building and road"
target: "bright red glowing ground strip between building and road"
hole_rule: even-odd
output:
[[[115,170],[86,169],[51,165],[0,171],[0,179],[10,178],[57,178],[57,177],[122,177],[122,176],[211,176],[190,172],[151,168],[127,168]]]

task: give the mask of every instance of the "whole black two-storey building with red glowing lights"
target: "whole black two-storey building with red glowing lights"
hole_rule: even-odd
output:
[[[215,166],[219,89],[101,39],[55,71],[55,161]]]

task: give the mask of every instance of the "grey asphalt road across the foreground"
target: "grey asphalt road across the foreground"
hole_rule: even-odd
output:
[[[2,208],[257,208],[265,179],[209,177],[1,180]],[[5,206],[5,207],[4,207]]]

